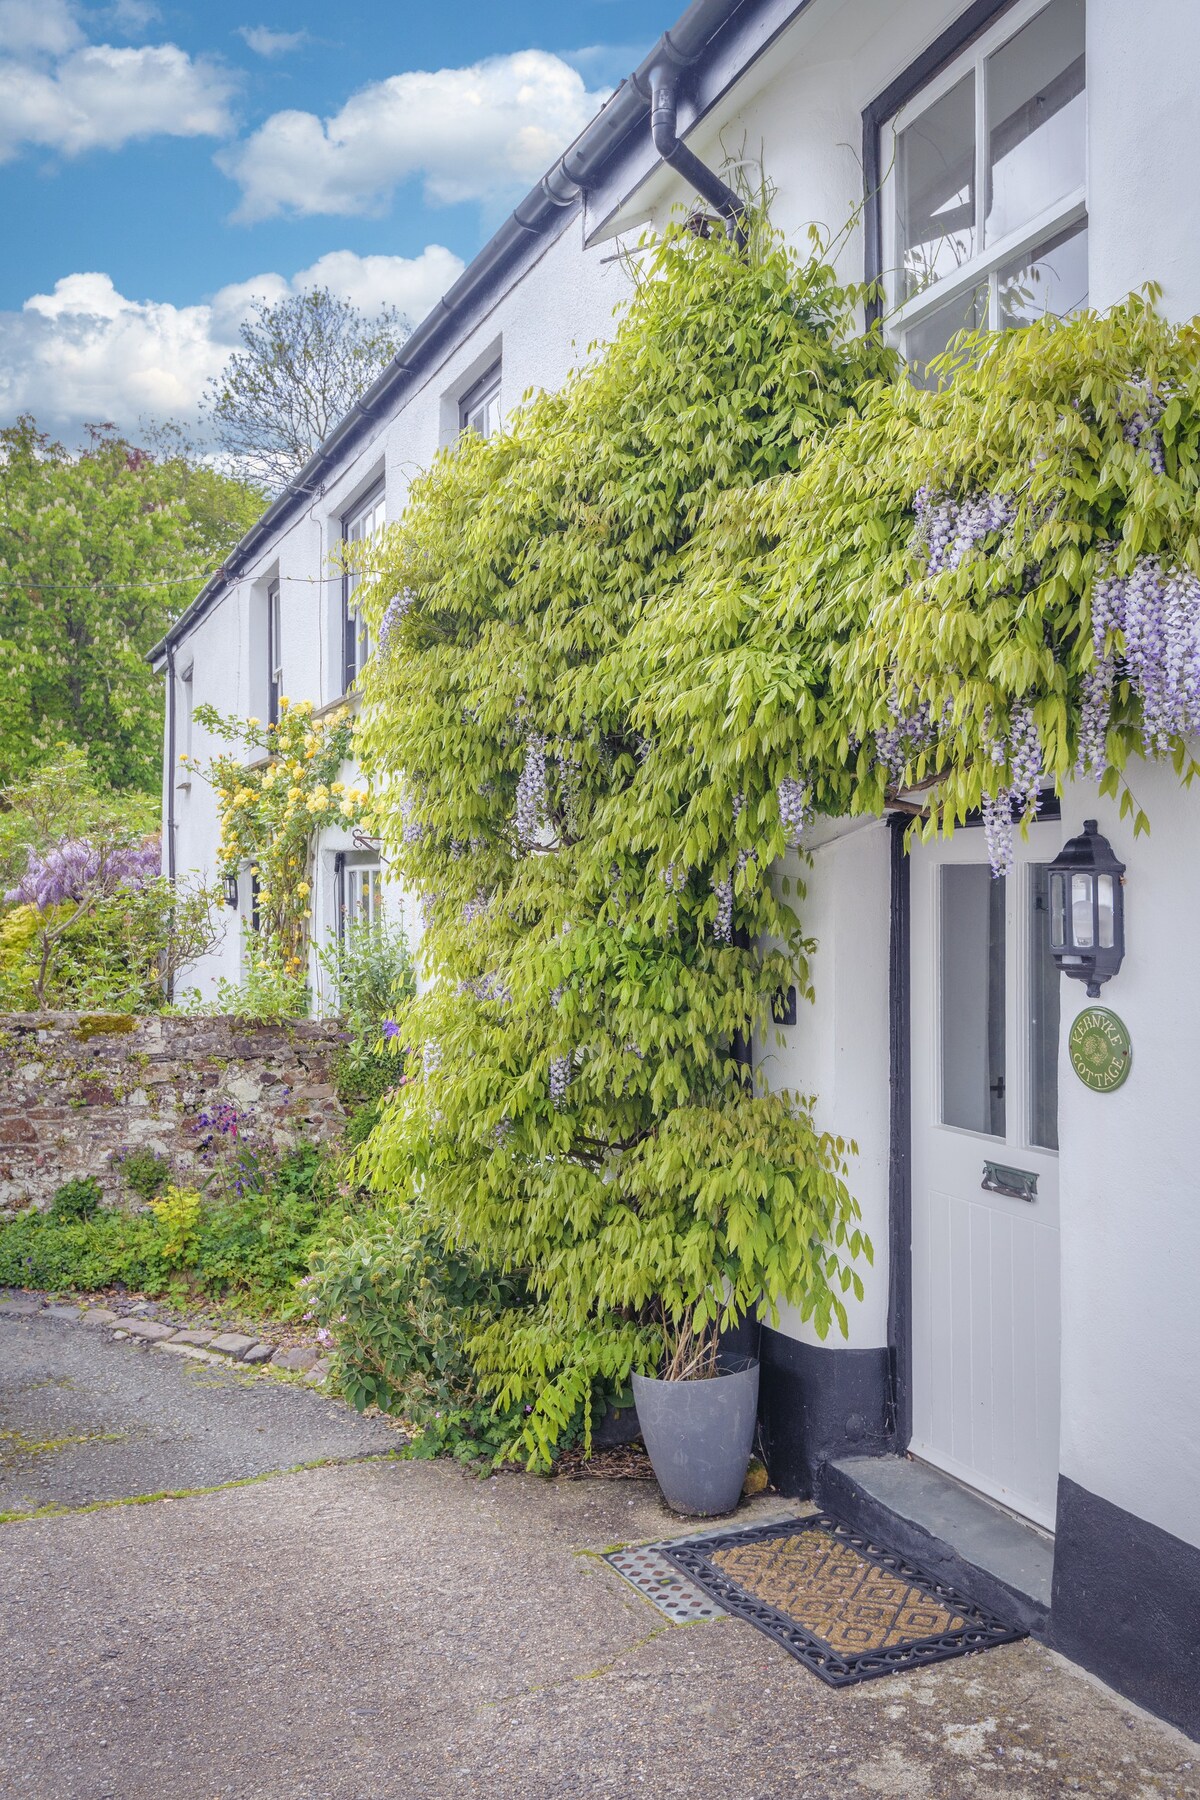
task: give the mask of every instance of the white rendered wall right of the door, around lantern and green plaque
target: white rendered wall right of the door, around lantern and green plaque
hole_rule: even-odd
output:
[[[1096,1004],[1133,1060],[1094,1094],[1067,1058],[1088,1004],[1063,979],[1060,1093],[1061,1472],[1200,1544],[1200,790],[1135,763],[1150,837],[1079,783],[1063,839],[1099,821],[1126,864],[1126,956]]]

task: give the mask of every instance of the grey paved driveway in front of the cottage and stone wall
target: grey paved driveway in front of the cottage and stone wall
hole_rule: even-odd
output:
[[[36,1328],[41,1388],[9,1382],[34,1364],[29,1327],[0,1318],[22,1435],[41,1429],[36,1395],[50,1438],[59,1395],[86,1422],[137,1393],[155,1424],[124,1440],[130,1492],[354,1456],[385,1429],[257,1377],[210,1388],[128,1343],[92,1345],[81,1372],[77,1327]],[[85,1453],[61,1453],[72,1503]],[[104,1445],[90,1454],[112,1496]],[[748,1625],[666,1625],[596,1552],[671,1528],[648,1483],[380,1458],[4,1525],[0,1795],[1200,1796],[1200,1746],[1033,1643],[835,1692]]]

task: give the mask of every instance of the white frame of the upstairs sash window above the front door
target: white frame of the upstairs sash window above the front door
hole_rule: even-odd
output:
[[[932,76],[923,86],[919,86],[909,99],[880,126],[880,162],[887,175],[882,184],[880,202],[882,202],[882,239],[883,239],[883,292],[887,297],[887,335],[892,342],[901,342],[905,331],[919,324],[930,313],[936,313],[948,301],[970,293],[975,288],[988,286],[988,326],[997,331],[1000,328],[1000,302],[999,302],[999,283],[997,274],[1013,259],[1024,256],[1029,250],[1036,250],[1038,245],[1045,243],[1049,238],[1058,238],[1061,232],[1070,230],[1072,225],[1087,223],[1087,184],[1076,187],[1072,193],[1063,194],[1051,207],[1045,207],[1036,218],[1027,220],[1024,225],[993,243],[984,243],[984,194],[988,193],[988,130],[986,130],[986,88],[984,88],[984,63],[988,58],[1002,49],[1011,38],[1016,36],[1031,20],[1043,13],[1051,0],[1016,0],[1006,13],[1000,14],[986,31],[979,34],[959,56],[946,63],[936,76]],[[975,79],[975,227],[973,227],[973,254],[954,270],[954,274],[941,275],[914,293],[909,301],[900,299],[901,293],[901,252],[898,245],[896,232],[896,146],[900,133],[907,124],[912,124],[928,106],[939,101],[950,88],[973,72]],[[1083,86],[1083,104],[1087,108],[1087,81]]]

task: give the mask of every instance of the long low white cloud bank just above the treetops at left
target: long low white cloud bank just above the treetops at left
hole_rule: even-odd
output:
[[[398,306],[416,324],[461,270],[441,245],[416,257],[333,250],[291,281],[255,275],[196,306],[131,301],[97,272],[65,275],[20,313],[0,313],[0,416],[32,412],[68,441],[103,419],[124,430],[140,418],[194,421],[254,299],[329,286],[363,311]]]

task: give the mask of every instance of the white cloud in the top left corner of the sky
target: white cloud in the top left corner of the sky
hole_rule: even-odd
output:
[[[76,157],[140,137],[225,137],[234,88],[230,70],[175,43],[86,43],[68,0],[0,0],[0,162],[29,146]]]

